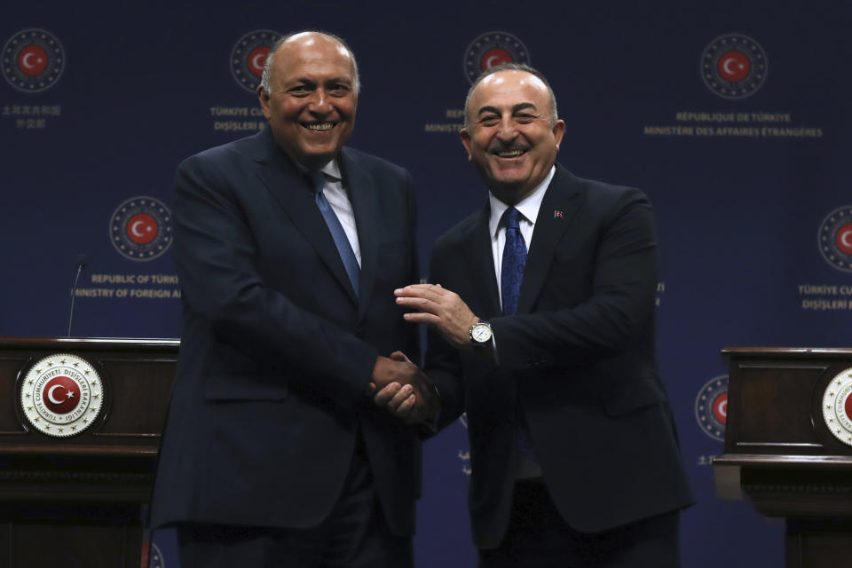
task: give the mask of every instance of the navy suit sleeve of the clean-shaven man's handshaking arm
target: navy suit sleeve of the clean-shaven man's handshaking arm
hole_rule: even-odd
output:
[[[376,349],[264,283],[233,181],[215,160],[194,156],[181,164],[175,192],[174,258],[185,310],[288,381],[308,382],[344,407],[355,406]]]

